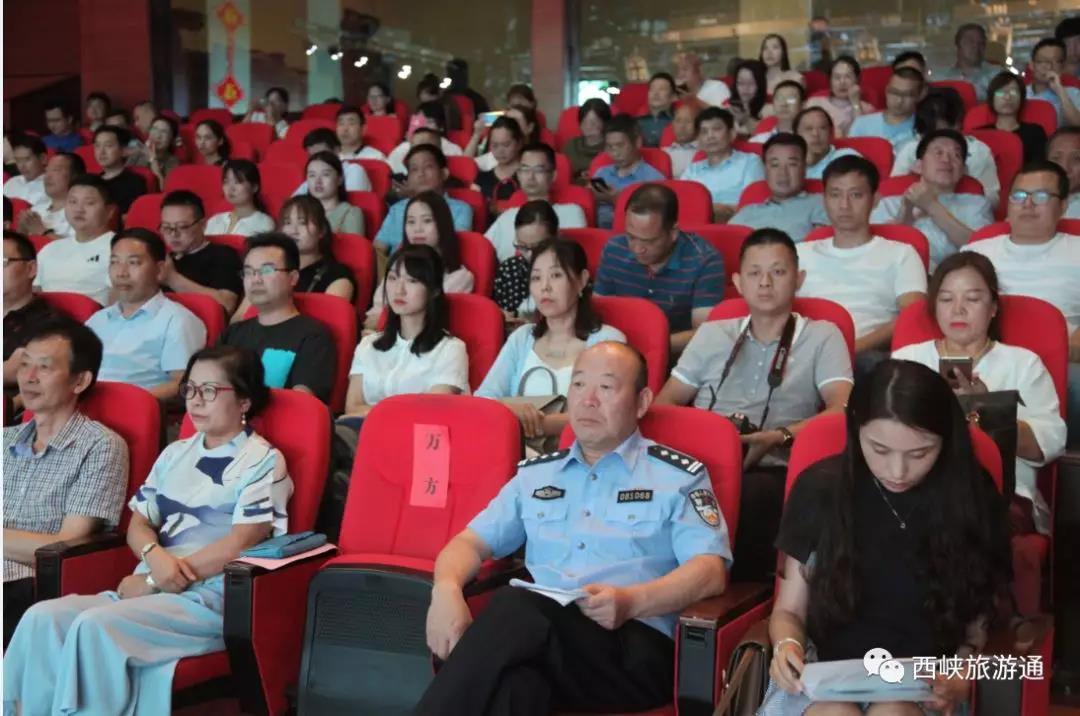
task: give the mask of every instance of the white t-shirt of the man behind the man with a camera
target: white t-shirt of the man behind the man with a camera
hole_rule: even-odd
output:
[[[896,318],[897,298],[927,292],[922,260],[899,241],[874,237],[862,246],[837,248],[833,239],[824,239],[804,241],[797,249],[799,268],[807,272],[798,295],[846,308],[860,338]]]

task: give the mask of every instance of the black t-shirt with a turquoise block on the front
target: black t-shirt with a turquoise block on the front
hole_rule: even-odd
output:
[[[314,319],[295,315],[272,326],[248,319],[226,328],[218,342],[258,353],[270,388],[306,386],[323,403],[329,402],[337,356],[329,332]]]

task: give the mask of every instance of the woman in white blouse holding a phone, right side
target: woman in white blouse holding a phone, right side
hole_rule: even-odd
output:
[[[905,346],[893,357],[935,370],[942,357],[971,357],[971,380],[957,369],[945,376],[958,393],[1020,391],[1013,529],[1049,533],[1050,514],[1036,486],[1036,471],[1064,451],[1065,420],[1053,379],[1039,356],[997,339],[998,276],[994,265],[975,252],[949,256],[930,279],[928,305],[945,337]]]

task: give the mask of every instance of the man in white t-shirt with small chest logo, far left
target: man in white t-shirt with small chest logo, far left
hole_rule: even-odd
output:
[[[71,181],[67,195],[67,220],[71,239],[46,244],[38,253],[38,291],[69,291],[90,296],[102,306],[109,302],[109,254],[116,215],[105,179],[84,174]]]

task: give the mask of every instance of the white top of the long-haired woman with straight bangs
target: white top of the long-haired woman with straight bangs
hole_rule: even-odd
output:
[[[417,355],[413,341],[400,335],[388,351],[376,350],[381,333],[365,336],[352,356],[350,376],[363,376],[364,403],[375,405],[384,397],[427,393],[435,386],[454,386],[469,392],[469,353],[464,342],[447,334],[438,345]]]

